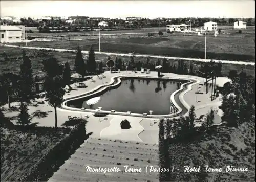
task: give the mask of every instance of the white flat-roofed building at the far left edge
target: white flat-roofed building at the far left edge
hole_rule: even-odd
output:
[[[16,26],[0,26],[0,42],[21,42],[22,41],[22,29]]]

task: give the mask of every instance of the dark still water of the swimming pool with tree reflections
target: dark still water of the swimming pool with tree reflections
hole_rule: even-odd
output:
[[[148,78],[123,78],[117,88],[108,88],[104,93],[96,94],[101,99],[94,105],[87,105],[86,101],[90,98],[80,98],[68,101],[67,106],[87,109],[115,110],[118,112],[149,113],[152,115],[168,115],[170,110],[170,95],[179,89],[179,80],[148,79]],[[175,97],[175,101],[181,108],[184,108]]]

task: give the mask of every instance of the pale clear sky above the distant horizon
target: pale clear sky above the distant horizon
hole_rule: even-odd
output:
[[[42,16],[89,16],[125,18],[227,17],[254,18],[254,0],[211,1],[0,1],[0,15],[39,18]]]

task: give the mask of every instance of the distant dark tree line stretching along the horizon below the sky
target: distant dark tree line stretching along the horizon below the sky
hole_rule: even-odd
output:
[[[51,18],[42,19],[42,20],[33,20],[28,17],[21,18],[20,22],[13,22],[11,20],[1,20],[1,24],[10,24],[10,25],[26,25],[27,27],[68,27],[68,26],[76,26],[76,27],[98,27],[100,21],[106,21],[108,23],[109,28],[114,27],[126,27],[129,25],[133,28],[145,28],[145,27],[166,27],[168,24],[187,24],[192,27],[203,26],[205,22],[214,21],[217,22],[218,25],[230,25],[232,26],[238,18],[156,18],[156,19],[148,19],[148,18],[139,18],[133,20],[124,20],[124,19],[94,19],[88,17],[72,17],[74,20],[73,23],[67,23],[65,20],[61,20],[60,18]],[[255,25],[255,18],[240,18],[240,20],[247,22],[248,26]]]

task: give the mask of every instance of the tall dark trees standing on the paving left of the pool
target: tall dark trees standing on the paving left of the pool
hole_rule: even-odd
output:
[[[17,124],[29,126],[32,118],[28,113],[27,104],[33,98],[33,88],[35,86],[36,78],[32,76],[31,60],[23,51],[23,62],[20,65],[20,72],[18,75],[6,73],[1,75],[1,90],[7,94],[8,106],[11,108],[11,96],[20,101],[20,113]],[[62,103],[64,94],[63,81],[60,77],[62,74],[62,67],[57,63],[55,58],[47,58],[43,60],[43,71],[46,72],[44,86],[46,89],[46,98],[49,105],[54,107],[55,111],[55,128],[57,128],[57,106]]]

